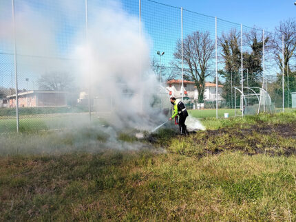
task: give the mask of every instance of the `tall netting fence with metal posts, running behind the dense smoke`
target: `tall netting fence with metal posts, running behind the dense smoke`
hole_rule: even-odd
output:
[[[236,115],[292,109],[295,60],[282,78],[271,32],[149,0],[1,0],[0,133],[97,123],[98,115],[114,109],[110,92],[98,95],[92,79],[76,69],[79,43],[87,43],[103,7],[106,23],[114,16],[110,8],[138,21],[139,36],[149,43],[151,72],[168,96],[183,98],[187,107],[218,104],[218,117],[234,109]]]

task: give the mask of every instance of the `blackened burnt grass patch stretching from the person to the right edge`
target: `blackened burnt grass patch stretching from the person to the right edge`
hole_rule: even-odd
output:
[[[188,137],[154,137],[154,143],[181,155],[204,157],[224,151],[242,151],[246,155],[296,155],[296,120],[285,123],[260,122],[244,126],[198,131]]]

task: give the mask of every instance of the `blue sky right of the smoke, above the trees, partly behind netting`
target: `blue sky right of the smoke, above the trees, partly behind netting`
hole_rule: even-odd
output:
[[[130,0],[123,0],[129,2]],[[230,1],[230,0],[207,0],[207,1],[177,1],[156,0],[160,5],[149,0],[142,0],[142,22],[145,31],[153,39],[151,57],[156,57],[157,51],[165,52],[162,57],[163,65],[169,65],[173,60],[173,52],[176,41],[180,38],[180,7],[183,10],[183,38],[194,31],[210,32],[211,38],[215,38],[215,18],[218,17],[218,38],[224,32],[236,29],[240,32],[240,23],[244,25],[243,32],[249,32],[247,27],[257,27],[273,32],[280,21],[295,18],[296,5],[294,1]],[[197,12],[197,13],[194,13]],[[204,14],[206,16],[203,16]],[[228,23],[226,21],[232,23]],[[245,27],[247,26],[247,27]],[[244,45],[244,51],[248,48]],[[218,49],[218,54],[220,51]],[[271,56],[271,55],[269,55]],[[266,58],[267,60],[268,58]],[[271,61],[271,60],[269,60]],[[266,62],[266,73],[275,75],[277,65]],[[221,65],[218,67],[222,68]],[[210,69],[215,69],[212,64]]]

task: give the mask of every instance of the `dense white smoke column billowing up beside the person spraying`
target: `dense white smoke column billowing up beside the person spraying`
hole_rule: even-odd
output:
[[[84,83],[91,84],[94,109],[108,112],[114,126],[147,130],[165,120],[151,108],[158,82],[149,74],[149,45],[139,36],[138,18],[119,5],[96,8],[88,41],[79,45],[77,54],[83,60]]]

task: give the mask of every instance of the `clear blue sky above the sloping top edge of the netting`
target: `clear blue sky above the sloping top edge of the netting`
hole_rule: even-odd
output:
[[[250,27],[257,25],[268,31],[272,31],[279,21],[296,17],[296,5],[293,0],[158,0],[158,2],[209,16],[218,16],[220,19]]]

